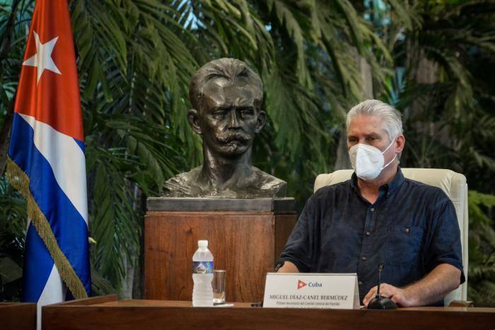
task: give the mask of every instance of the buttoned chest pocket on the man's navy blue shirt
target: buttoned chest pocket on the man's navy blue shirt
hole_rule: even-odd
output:
[[[388,227],[385,263],[388,266],[412,268],[419,260],[422,239],[423,228],[421,227]]]

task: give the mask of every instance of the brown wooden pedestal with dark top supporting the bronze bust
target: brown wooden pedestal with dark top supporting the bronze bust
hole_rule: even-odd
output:
[[[278,204],[267,198],[194,200],[148,200],[145,298],[191,300],[192,255],[197,241],[208,239],[214,268],[227,271],[226,300],[261,301],[265,275],[274,270],[296,224],[293,199]]]

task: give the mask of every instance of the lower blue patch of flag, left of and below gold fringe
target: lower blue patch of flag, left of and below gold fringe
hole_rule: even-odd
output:
[[[25,237],[23,302],[37,302],[52,272],[53,260],[32,223]]]

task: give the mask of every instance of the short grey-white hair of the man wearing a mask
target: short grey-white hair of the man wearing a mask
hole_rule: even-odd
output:
[[[351,120],[358,115],[372,115],[382,119],[382,129],[385,130],[390,140],[402,134],[401,114],[397,109],[387,103],[378,100],[366,100],[354,106],[347,113],[346,127],[349,131]]]

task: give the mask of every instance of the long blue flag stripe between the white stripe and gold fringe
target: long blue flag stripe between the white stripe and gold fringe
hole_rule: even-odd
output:
[[[52,167],[35,147],[33,137],[33,128],[16,113],[8,154],[30,178],[31,195],[50,223],[60,249],[81,278],[89,295],[91,278],[88,227],[81,214],[59,187]]]

